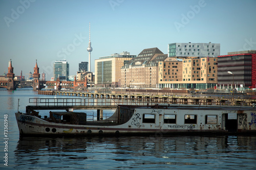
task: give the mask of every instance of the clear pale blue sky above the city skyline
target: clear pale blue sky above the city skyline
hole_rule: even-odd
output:
[[[46,79],[53,63],[66,59],[70,75],[88,61],[114,53],[138,55],[169,43],[220,43],[220,55],[256,50],[255,0],[0,0],[0,74],[28,78],[35,62]]]

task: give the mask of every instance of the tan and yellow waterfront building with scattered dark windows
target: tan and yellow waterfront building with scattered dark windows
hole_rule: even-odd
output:
[[[167,61],[169,58],[173,57],[159,62],[159,77],[163,79],[159,79],[158,88],[207,89],[217,86],[217,57],[187,57],[171,62]],[[173,67],[172,72],[167,70],[167,66]]]

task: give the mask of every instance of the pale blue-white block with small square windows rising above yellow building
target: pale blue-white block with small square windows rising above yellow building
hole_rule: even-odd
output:
[[[168,57],[218,57],[220,43],[170,43]]]

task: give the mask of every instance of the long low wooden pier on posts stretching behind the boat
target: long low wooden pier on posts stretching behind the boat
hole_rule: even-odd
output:
[[[91,92],[68,92],[68,91],[38,91],[43,95],[67,95],[83,96],[95,99],[125,99],[141,101],[149,104],[185,104],[185,105],[235,105],[250,106],[256,103],[256,99],[226,99],[226,98],[197,98],[195,96],[165,96],[165,95],[146,95],[146,94],[112,94],[112,93],[91,93]]]

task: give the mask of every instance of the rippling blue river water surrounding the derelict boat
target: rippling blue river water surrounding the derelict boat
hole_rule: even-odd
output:
[[[25,112],[29,98],[63,97],[0,90],[0,169],[255,169],[256,134],[19,138],[18,99]]]

